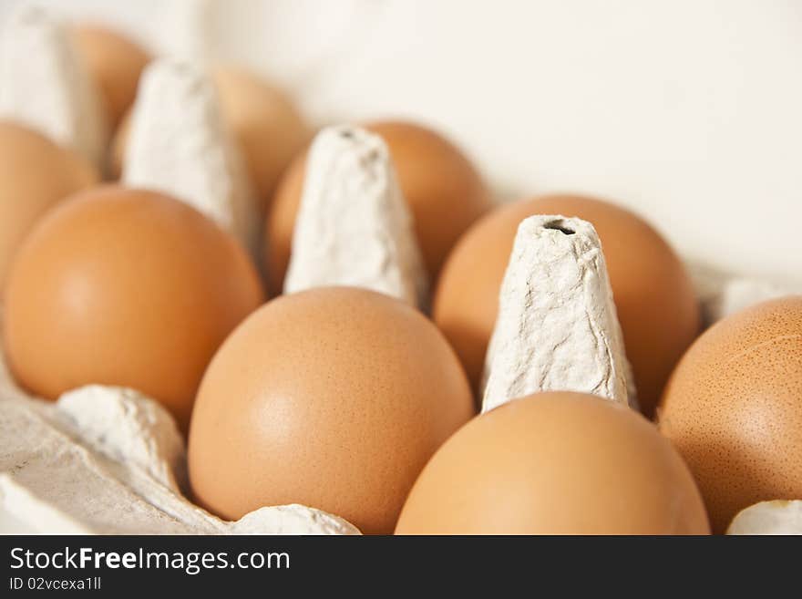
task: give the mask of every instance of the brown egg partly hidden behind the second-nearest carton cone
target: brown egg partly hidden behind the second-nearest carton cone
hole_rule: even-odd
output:
[[[459,235],[492,207],[478,171],[448,139],[413,123],[381,121],[366,125],[385,139],[398,183],[415,219],[428,274],[434,279]],[[265,231],[268,286],[280,293],[290,263],[295,215],[301,202],[305,152],[283,175]]]

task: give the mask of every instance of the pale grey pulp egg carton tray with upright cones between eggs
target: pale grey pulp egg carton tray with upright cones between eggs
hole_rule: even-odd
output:
[[[58,52],[53,50],[54,56]],[[65,85],[69,88],[84,84]],[[210,86],[202,71],[187,63],[157,61],[149,67],[132,117],[122,178],[132,185],[191,198],[196,208],[255,252],[252,190],[236,146],[220,127],[219,119],[213,118],[218,108]],[[165,102],[164,98],[174,101]],[[8,102],[9,113],[14,114],[19,100],[12,98]],[[68,102],[67,108],[77,109]],[[51,137],[61,134],[52,123],[37,120],[37,115],[34,110],[25,115],[19,113],[18,118],[44,122]],[[79,137],[70,139],[76,146],[86,145]],[[188,139],[193,143],[184,143]],[[170,169],[164,168],[165,163],[170,164]],[[168,172],[170,176],[166,176]],[[372,186],[360,202],[340,192],[337,181],[362,177]],[[346,212],[346,220],[353,226],[331,227],[332,222],[342,222]],[[564,219],[563,224],[570,225],[576,234],[558,237],[558,243],[551,248],[553,255],[545,256],[539,248],[526,246],[528,240],[549,234],[550,229],[553,232],[554,218],[528,219],[521,242],[513,251],[501,289],[499,321],[488,351],[486,388],[490,392],[484,408],[495,407],[499,398],[503,401],[533,390],[562,386],[634,405],[632,375],[622,347],[603,254],[592,227],[579,220]],[[587,259],[578,261],[580,255]],[[583,329],[571,332],[569,343],[551,338],[550,331],[540,329],[530,331],[529,336],[520,335],[516,317],[529,308],[521,290],[508,285],[507,280],[525,280],[540,260],[561,260],[583,269],[583,276],[573,279],[581,282],[578,286],[541,286],[560,294],[566,305],[587,307],[589,321],[603,343],[591,340]],[[798,291],[694,263],[688,267],[706,325],[747,305]],[[362,129],[325,129],[310,151],[285,291],[325,284],[374,289],[426,308],[427,280],[386,147]],[[565,321],[571,324],[570,310]],[[547,352],[547,363],[524,373],[521,368],[531,365],[517,361],[521,352],[516,344],[524,337],[531,343],[532,336],[539,335],[539,346],[556,348],[561,344],[563,353]],[[550,380],[555,362],[577,355],[589,357],[586,363],[571,369],[575,379]],[[302,505],[263,507],[236,522],[222,521],[187,498],[184,439],[174,419],[159,403],[132,389],[97,385],[72,390],[56,402],[34,398],[16,387],[2,352],[0,439],[0,513],[5,511],[5,528],[9,530],[359,533],[336,515]],[[733,530],[754,530],[755,522],[770,524],[777,510],[798,519],[797,503],[758,504],[745,511],[746,520],[734,525]],[[0,529],[3,525],[0,518]]]

